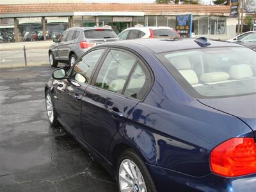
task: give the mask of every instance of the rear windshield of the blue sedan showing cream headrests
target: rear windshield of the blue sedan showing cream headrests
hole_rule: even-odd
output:
[[[159,59],[193,97],[256,93],[256,52],[245,47],[205,48],[159,54]]]

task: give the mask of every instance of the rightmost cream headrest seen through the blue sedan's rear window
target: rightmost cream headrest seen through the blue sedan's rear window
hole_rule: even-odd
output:
[[[252,68],[247,64],[232,65],[229,70],[232,79],[244,79],[253,77]]]

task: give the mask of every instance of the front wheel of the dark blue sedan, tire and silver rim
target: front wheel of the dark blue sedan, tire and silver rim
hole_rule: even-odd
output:
[[[58,127],[59,122],[57,120],[57,113],[52,102],[51,92],[47,90],[45,93],[45,107],[48,116],[48,120],[52,127]]]

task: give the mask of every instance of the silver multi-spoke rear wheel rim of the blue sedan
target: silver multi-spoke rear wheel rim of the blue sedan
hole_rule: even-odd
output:
[[[121,192],[147,192],[140,169],[129,159],[120,164],[118,180]]]

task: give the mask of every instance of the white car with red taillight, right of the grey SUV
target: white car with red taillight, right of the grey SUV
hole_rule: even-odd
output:
[[[175,29],[169,27],[136,27],[127,28],[118,37],[120,40],[135,38],[179,38],[180,35]]]

